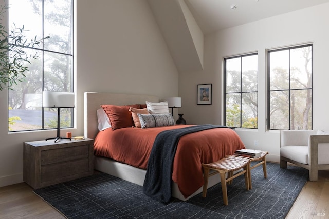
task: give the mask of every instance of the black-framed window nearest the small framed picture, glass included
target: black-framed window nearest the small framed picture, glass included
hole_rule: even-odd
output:
[[[258,128],[258,54],[224,59],[224,125]]]

